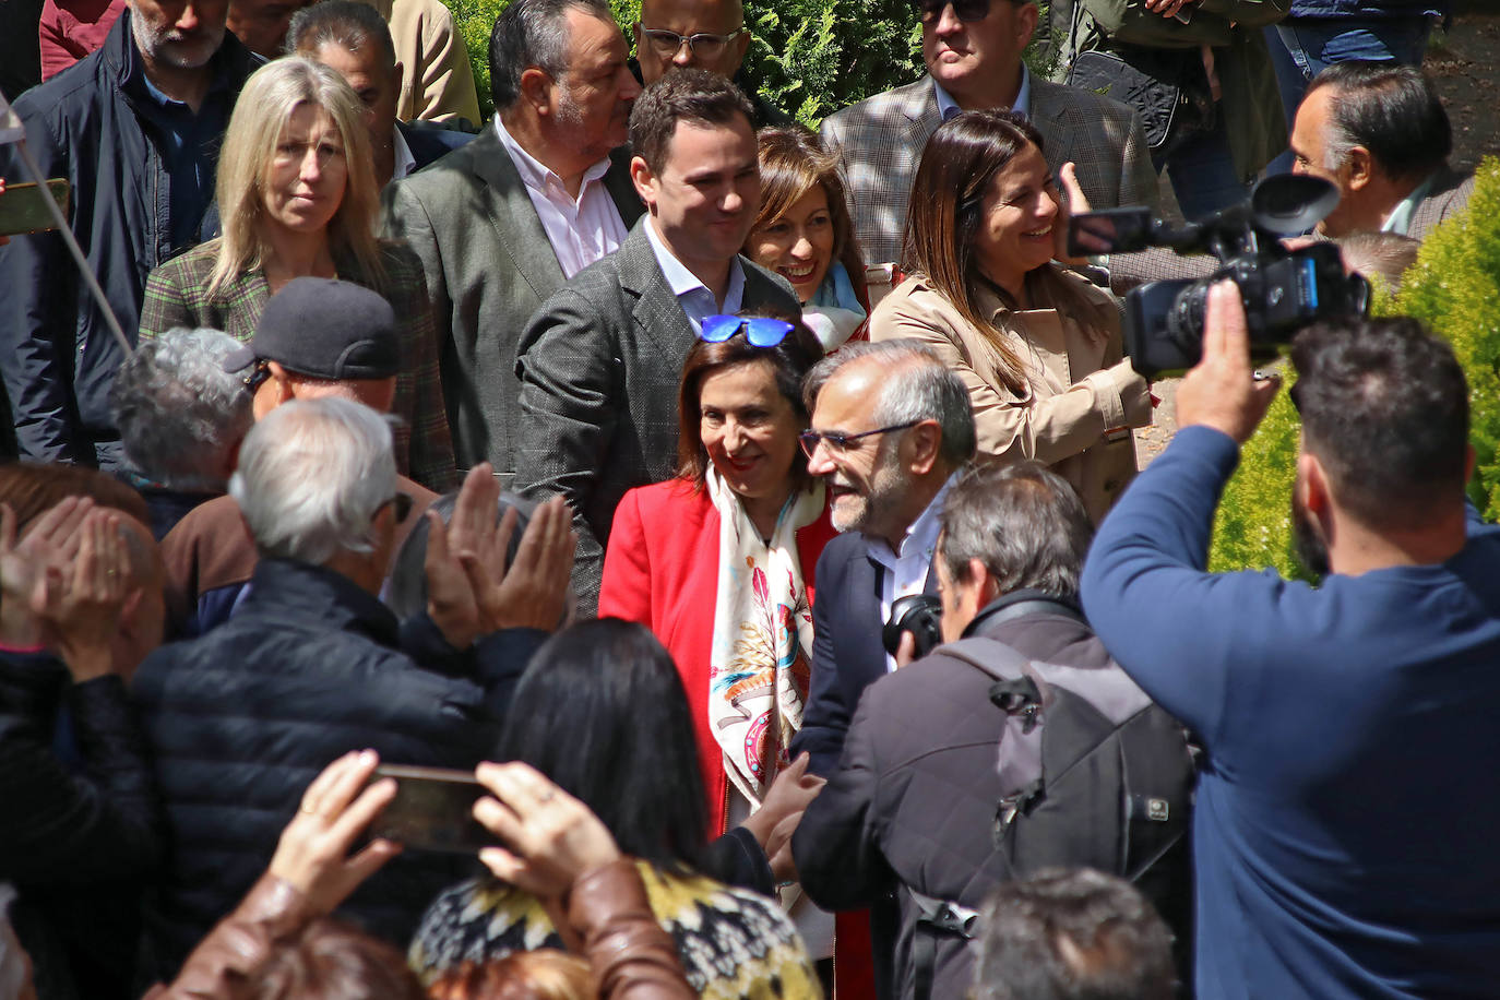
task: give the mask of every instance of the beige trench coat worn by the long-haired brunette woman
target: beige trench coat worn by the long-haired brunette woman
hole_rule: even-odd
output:
[[[1052,267],[1052,265],[1048,265]],[[1082,277],[1077,282],[1108,330],[1090,337],[1074,318],[1050,303],[1011,310],[990,292],[981,303],[1011,348],[1026,360],[1028,387],[1017,394],[1000,378],[999,357],[924,274],[914,274],[886,295],[870,316],[872,340],[914,337],[958,373],[974,403],[980,456],[998,462],[1036,459],[1068,480],[1095,523],[1136,475],[1136,444],[1106,430],[1150,423],[1146,379],[1122,360],[1119,310],[1113,297]]]

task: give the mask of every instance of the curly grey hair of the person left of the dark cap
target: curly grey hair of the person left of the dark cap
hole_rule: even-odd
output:
[[[170,489],[224,489],[231,448],[250,429],[250,394],[224,370],[240,345],[218,330],[178,327],[141,340],[110,388],[124,454]]]

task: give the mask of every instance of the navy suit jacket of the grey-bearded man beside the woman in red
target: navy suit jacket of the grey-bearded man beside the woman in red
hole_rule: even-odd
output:
[[[938,574],[928,568],[928,594],[938,592]],[[864,690],[884,678],[880,643],[880,567],[870,559],[868,541],[858,531],[838,535],[818,559],[818,601],[813,604],[813,679],[808,684],[802,729],[792,738],[795,760],[812,754],[810,774],[828,777],[838,769],[849,720]]]

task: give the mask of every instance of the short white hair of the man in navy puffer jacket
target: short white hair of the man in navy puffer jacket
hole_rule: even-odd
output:
[[[370,522],[396,493],[387,420],[333,396],[282,403],[240,447],[230,496],[266,556],[322,565],[374,550]]]

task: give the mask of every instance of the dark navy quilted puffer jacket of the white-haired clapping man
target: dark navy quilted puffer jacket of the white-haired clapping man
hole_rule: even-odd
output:
[[[147,907],[153,975],[188,952],[266,870],[308,784],[372,748],[387,763],[470,769],[498,735],[542,633],[482,640],[476,679],[420,667],[396,618],[348,579],[261,559],[238,613],[152,654],[135,679],[166,805],[168,864]],[[430,898],[474,861],[411,852],[340,910],[405,946]]]

